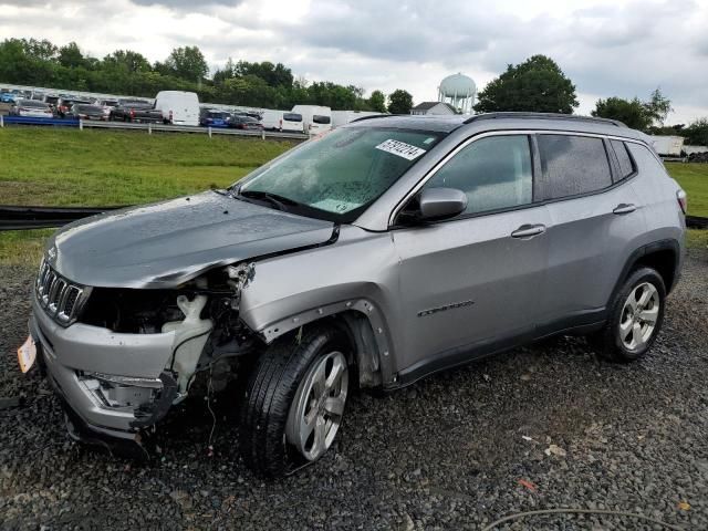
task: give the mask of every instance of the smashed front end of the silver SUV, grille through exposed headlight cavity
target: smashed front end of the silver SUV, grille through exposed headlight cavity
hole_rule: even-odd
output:
[[[139,444],[198,387],[200,373],[209,389],[223,389],[260,345],[239,319],[252,277],[253,266],[243,263],[169,290],[87,288],[43,263],[30,333],[67,408],[70,434]],[[67,309],[77,292],[76,308]]]

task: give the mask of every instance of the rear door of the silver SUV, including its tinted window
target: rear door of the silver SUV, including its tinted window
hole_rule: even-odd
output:
[[[603,319],[626,249],[644,232],[644,219],[632,175],[620,175],[608,139],[549,133],[537,142],[538,196],[550,215],[541,332],[552,332]]]

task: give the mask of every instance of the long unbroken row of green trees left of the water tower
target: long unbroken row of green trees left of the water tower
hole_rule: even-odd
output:
[[[206,103],[292,108],[295,104],[333,110],[386,112],[386,96],[329,81],[295,79],[282,63],[229,60],[209,75],[198,46],[177,48],[165,61],[117,50],[103,59],[84,54],[75,42],[58,46],[48,40],[6,39],[0,43],[0,82],[154,97],[159,91],[196,92]],[[392,94],[393,95],[393,94]],[[395,98],[394,98],[395,100]]]

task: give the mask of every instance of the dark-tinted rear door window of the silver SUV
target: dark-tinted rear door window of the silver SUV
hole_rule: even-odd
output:
[[[543,199],[558,199],[601,190],[612,185],[610,162],[602,138],[539,135]]]

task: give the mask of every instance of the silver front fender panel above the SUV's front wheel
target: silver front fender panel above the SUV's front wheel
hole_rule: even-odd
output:
[[[342,229],[336,243],[271,258],[253,266],[241,291],[240,319],[266,343],[326,316],[366,317],[384,382],[395,377],[398,257],[387,233]]]

